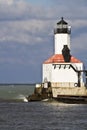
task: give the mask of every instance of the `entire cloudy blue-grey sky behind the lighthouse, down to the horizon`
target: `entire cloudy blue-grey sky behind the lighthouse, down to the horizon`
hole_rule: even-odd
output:
[[[0,0],[0,83],[42,82],[61,17],[71,26],[71,54],[87,66],[87,0]]]

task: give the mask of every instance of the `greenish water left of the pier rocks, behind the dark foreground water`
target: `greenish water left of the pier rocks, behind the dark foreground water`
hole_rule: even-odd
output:
[[[24,100],[33,93],[35,84],[0,85],[0,100]]]

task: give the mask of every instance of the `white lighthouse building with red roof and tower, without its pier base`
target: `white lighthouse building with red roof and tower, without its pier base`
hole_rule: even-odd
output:
[[[70,34],[71,27],[61,18],[54,29],[54,54],[44,61],[42,70],[42,82],[50,82],[53,88],[84,84],[83,63],[70,54]]]

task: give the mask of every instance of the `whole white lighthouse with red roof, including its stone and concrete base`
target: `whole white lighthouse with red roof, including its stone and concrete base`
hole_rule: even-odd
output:
[[[70,35],[71,27],[62,17],[54,29],[54,53],[42,64],[42,83],[28,101],[87,103],[87,70],[70,52]]]

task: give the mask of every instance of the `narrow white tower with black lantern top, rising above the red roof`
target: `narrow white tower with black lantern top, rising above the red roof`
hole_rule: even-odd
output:
[[[71,27],[68,26],[61,18],[61,21],[57,23],[57,27],[54,29],[54,38],[55,38],[55,54],[62,54],[62,49],[66,45],[70,49],[70,34]]]

